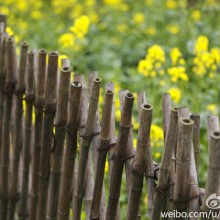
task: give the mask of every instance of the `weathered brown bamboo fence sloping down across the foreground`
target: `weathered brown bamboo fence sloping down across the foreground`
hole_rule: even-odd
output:
[[[98,72],[91,72],[88,82],[86,75],[73,78],[68,59],[58,66],[57,51],[28,47],[22,42],[17,57],[6,16],[0,14],[0,220],[159,220],[161,212],[174,210],[217,218],[218,116],[207,118],[207,181],[200,188],[202,115],[172,106],[170,94],[162,95],[164,148],[157,164],[150,135],[153,106],[144,92],[136,101],[129,90],[115,94],[112,82],[101,92]],[[120,122],[115,119],[119,100]],[[137,146],[133,107],[140,121]],[[126,210],[121,207],[124,183]]]

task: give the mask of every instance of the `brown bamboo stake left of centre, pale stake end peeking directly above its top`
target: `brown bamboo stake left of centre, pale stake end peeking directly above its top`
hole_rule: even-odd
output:
[[[70,67],[63,67],[60,72],[60,83],[55,117],[54,148],[51,155],[50,185],[48,196],[47,220],[57,218],[60,177],[67,120],[67,103],[70,84]]]

